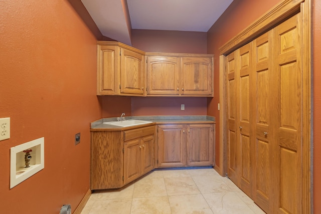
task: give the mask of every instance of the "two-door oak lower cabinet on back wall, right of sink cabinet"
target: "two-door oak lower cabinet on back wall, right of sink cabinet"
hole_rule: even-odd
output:
[[[157,126],[159,168],[214,165],[214,124]]]

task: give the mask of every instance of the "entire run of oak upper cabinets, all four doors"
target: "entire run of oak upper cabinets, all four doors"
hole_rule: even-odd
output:
[[[97,95],[213,97],[213,55],[145,53],[97,41]]]

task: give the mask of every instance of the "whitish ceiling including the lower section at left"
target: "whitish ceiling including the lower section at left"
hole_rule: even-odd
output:
[[[207,32],[233,0],[81,0],[81,2],[104,36],[131,45],[131,29]],[[126,19],[128,17],[129,23]]]

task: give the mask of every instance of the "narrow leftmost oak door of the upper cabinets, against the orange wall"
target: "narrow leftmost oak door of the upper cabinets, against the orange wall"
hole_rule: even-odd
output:
[[[97,95],[119,93],[119,47],[98,46]]]

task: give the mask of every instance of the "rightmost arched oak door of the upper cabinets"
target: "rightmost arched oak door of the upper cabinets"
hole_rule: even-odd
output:
[[[182,95],[213,96],[213,58],[182,57]]]

